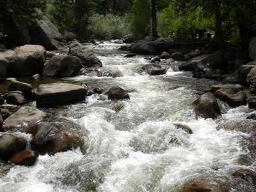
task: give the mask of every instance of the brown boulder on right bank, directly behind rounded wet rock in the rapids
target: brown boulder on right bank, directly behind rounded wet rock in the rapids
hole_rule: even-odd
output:
[[[228,103],[228,105],[232,107],[237,107],[246,104],[247,96],[236,86],[224,86],[220,88],[218,91],[214,92],[214,95]]]

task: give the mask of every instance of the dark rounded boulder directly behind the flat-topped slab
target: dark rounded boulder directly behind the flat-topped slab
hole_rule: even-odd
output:
[[[44,67],[45,77],[73,77],[79,74],[83,67],[81,60],[74,56],[53,56]]]

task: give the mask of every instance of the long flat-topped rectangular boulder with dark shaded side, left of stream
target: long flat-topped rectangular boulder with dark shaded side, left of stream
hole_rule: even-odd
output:
[[[39,108],[62,104],[74,104],[84,100],[86,89],[70,83],[40,84],[36,93],[36,105]]]

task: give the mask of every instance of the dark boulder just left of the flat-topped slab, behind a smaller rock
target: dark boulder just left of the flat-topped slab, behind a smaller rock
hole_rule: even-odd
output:
[[[9,92],[12,91],[20,91],[26,99],[29,99],[32,93],[32,86],[28,83],[13,80],[9,85]]]

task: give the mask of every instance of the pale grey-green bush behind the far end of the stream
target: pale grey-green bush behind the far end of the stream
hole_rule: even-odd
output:
[[[124,37],[127,31],[124,17],[112,14],[93,14],[88,19],[88,35],[92,38],[110,40],[111,38]]]

